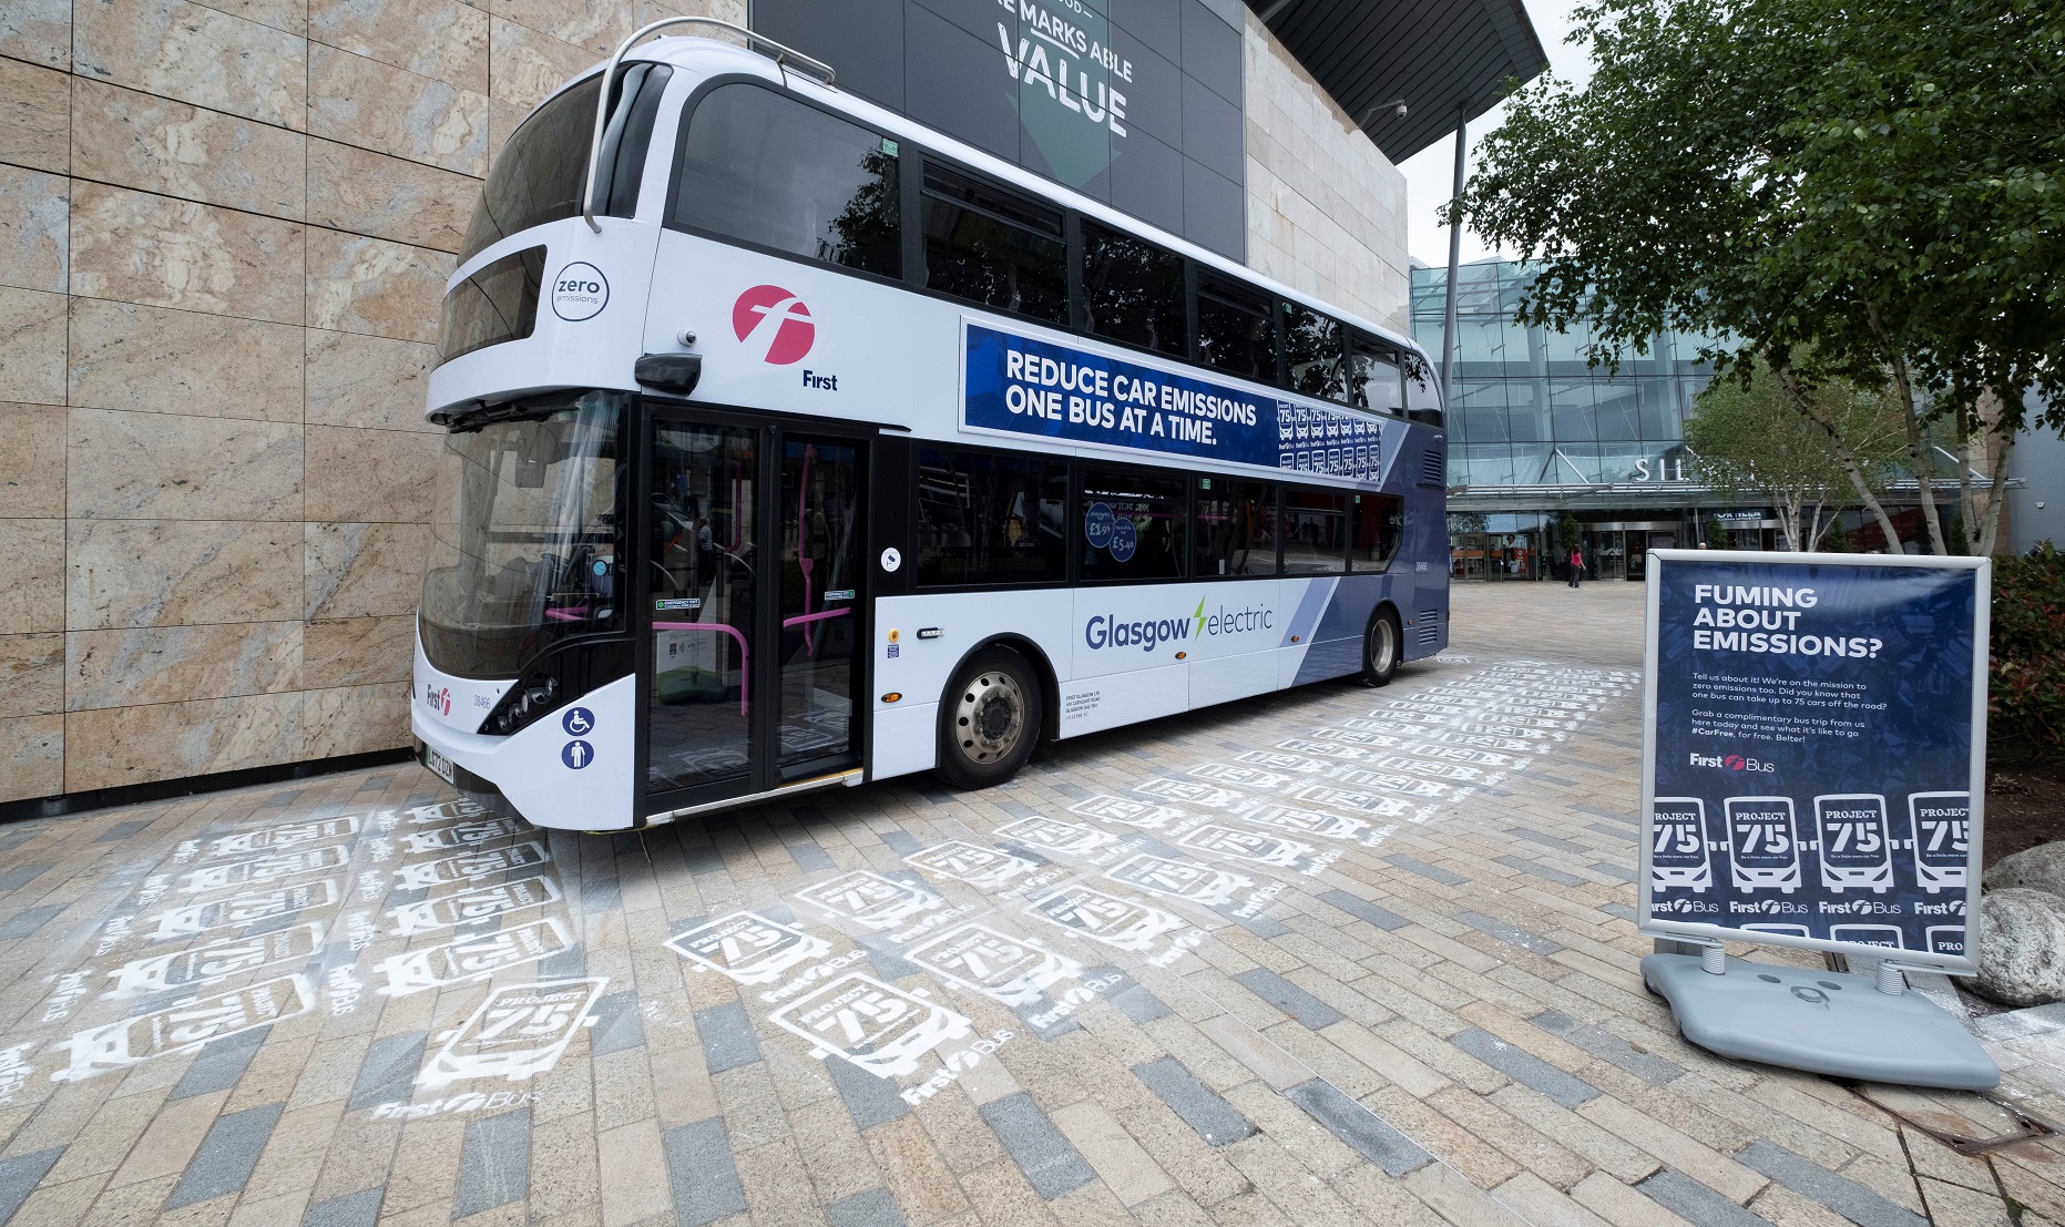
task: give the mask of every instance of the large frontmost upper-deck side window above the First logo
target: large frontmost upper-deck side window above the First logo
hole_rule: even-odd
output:
[[[758,85],[721,85],[681,140],[669,225],[902,275],[898,149]]]

